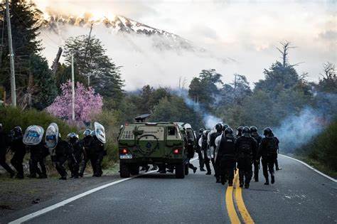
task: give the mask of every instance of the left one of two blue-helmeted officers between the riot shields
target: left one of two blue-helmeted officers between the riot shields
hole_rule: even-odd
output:
[[[74,162],[70,165],[71,177],[78,178],[80,171],[80,162],[83,159],[85,151],[82,146],[82,142],[78,139],[78,134],[72,132],[67,136],[68,142],[73,147]]]

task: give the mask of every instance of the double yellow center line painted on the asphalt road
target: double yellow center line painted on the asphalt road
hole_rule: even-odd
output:
[[[234,206],[234,199],[237,205],[237,208],[240,212],[243,223],[254,223],[250,213],[245,206],[242,198],[242,188],[240,188],[239,183],[239,172],[237,171],[234,176],[233,186],[228,186],[226,191],[226,208],[228,211],[228,216],[230,217],[230,222],[232,224],[241,223],[239,215]]]

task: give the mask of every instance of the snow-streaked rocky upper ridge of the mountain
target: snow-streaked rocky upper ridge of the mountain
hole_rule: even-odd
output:
[[[95,25],[104,25],[110,31],[114,33],[124,33],[124,34],[136,34],[143,36],[152,36],[156,38],[154,41],[154,46],[160,49],[175,49],[178,50],[182,48],[183,50],[193,50],[193,51],[203,51],[200,48],[193,46],[191,41],[182,38],[173,33],[163,31],[158,28],[153,28],[147,26],[143,23],[139,23],[125,16],[114,16],[113,18],[92,18],[92,16],[63,16],[63,15],[49,15],[48,23],[46,23],[47,29],[51,29],[56,33],[62,31],[62,27],[66,25],[72,26],[91,26]]]

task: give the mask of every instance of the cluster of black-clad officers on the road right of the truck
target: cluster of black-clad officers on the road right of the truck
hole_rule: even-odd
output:
[[[235,172],[238,169],[240,187],[249,188],[253,176],[259,181],[260,161],[262,162],[265,185],[275,182],[274,166],[279,170],[277,153],[279,140],[274,137],[272,129],[264,129],[264,137],[257,132],[257,127],[238,127],[237,133],[228,124],[216,124],[215,130],[200,129],[198,140],[198,156],[200,171],[207,169],[207,175],[211,174],[210,163],[213,164],[217,183],[232,186]],[[269,174],[268,174],[269,171]]]

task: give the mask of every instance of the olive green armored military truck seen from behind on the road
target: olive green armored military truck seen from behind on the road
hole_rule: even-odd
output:
[[[138,118],[138,122],[124,124],[120,130],[120,176],[137,175],[139,166],[156,164],[171,166],[176,178],[184,178],[188,174],[188,139],[182,123],[144,122]]]

